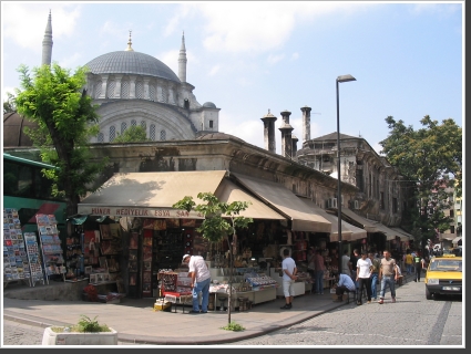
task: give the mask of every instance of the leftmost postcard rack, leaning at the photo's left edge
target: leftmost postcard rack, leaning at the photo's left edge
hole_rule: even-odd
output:
[[[31,270],[24,248],[18,210],[3,209],[3,287],[10,281],[28,281],[31,287]]]

